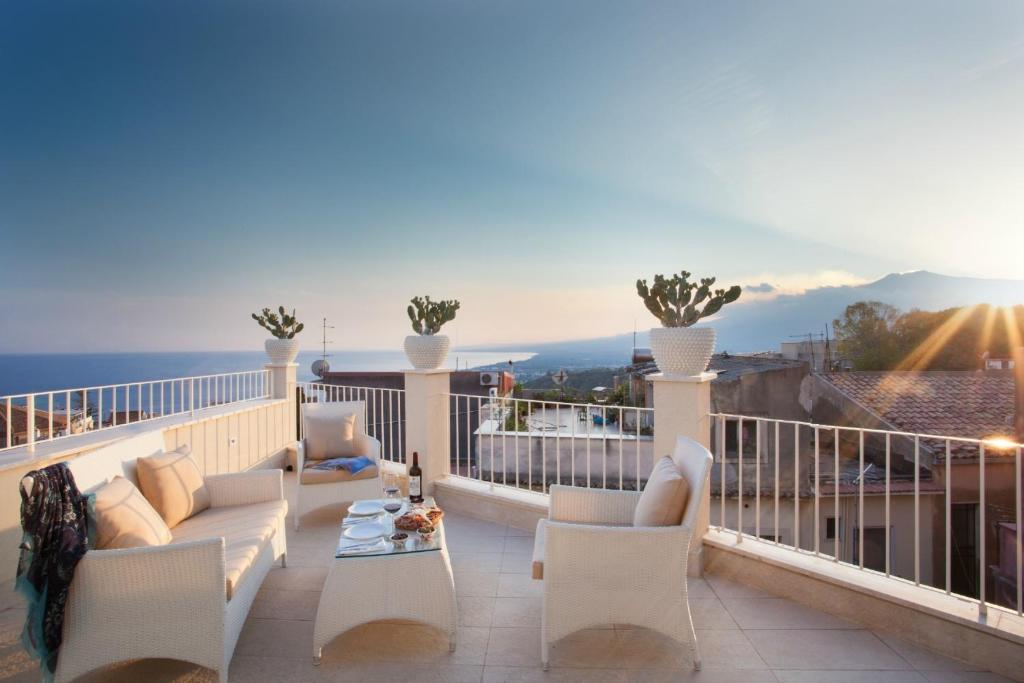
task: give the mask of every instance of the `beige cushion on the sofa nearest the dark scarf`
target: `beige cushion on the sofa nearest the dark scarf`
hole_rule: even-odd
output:
[[[171,529],[142,493],[124,477],[96,489],[94,509],[97,549],[163,546]]]

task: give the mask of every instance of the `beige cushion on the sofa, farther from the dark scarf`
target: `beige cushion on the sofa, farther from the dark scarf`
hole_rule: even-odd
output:
[[[210,507],[210,492],[188,446],[139,458],[137,467],[142,495],[171,528]]]

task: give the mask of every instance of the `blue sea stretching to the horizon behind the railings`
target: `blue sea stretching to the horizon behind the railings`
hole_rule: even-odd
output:
[[[300,381],[315,379],[310,367],[323,355],[317,351],[299,353]],[[452,351],[447,367],[483,368],[528,360],[534,355],[528,351]],[[409,368],[406,354],[398,350],[331,351],[327,360],[332,371]],[[260,370],[265,362],[262,351],[0,354],[0,396]]]

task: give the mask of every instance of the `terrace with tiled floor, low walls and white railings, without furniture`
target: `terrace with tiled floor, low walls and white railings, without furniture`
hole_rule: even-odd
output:
[[[702,670],[693,672],[683,648],[657,633],[607,625],[558,642],[552,649],[551,670],[544,672],[540,653],[543,583],[535,581],[530,570],[532,529],[547,515],[546,492],[556,481],[608,488],[642,486],[652,454],[664,447],[658,439],[685,407],[668,400],[659,400],[653,410],[578,407],[569,413],[573,421],[565,426],[538,429],[532,416],[535,409],[547,410],[543,404],[521,409],[513,399],[449,394],[436,388],[442,384],[431,388],[430,382],[446,380],[443,373],[433,379],[411,374],[406,388],[394,390],[296,383],[294,371],[291,379],[285,375],[282,382],[279,370],[185,378],[172,381],[170,388],[161,384],[148,392],[140,386],[137,391],[131,387],[75,390],[85,394],[81,405],[105,401],[115,411],[141,405],[148,413],[147,418],[128,425],[108,426],[99,420],[93,430],[82,434],[46,430],[48,412],[74,408],[74,392],[63,397],[59,394],[65,392],[11,400],[0,397],[0,411],[4,401],[7,410],[20,401],[43,411],[43,417],[37,418],[41,426],[29,433],[30,443],[0,451],[0,486],[10,494],[0,499],[0,558],[13,566],[18,531],[17,497],[12,492],[31,469],[76,458],[100,443],[142,430],[161,430],[168,449],[190,445],[206,474],[282,467],[301,436],[296,397],[299,401],[356,399],[366,403],[366,424],[382,442],[385,459],[404,462],[404,454],[415,449],[426,454],[428,471],[442,470],[431,477],[431,484],[447,513],[444,527],[458,599],[458,648],[449,653],[445,635],[431,627],[379,622],[337,638],[314,667],[313,620],[343,507],[325,507],[305,515],[297,531],[291,530],[294,510],[290,510],[288,566],[271,569],[257,594],[231,659],[232,681],[999,681],[1010,680],[1002,676],[1018,680],[1024,676],[1020,673],[1024,671],[1024,618],[1019,603],[1017,608],[1008,608],[992,602],[990,596],[986,600],[984,594],[979,600],[943,591],[941,577],[925,581],[912,569],[897,571],[895,552],[891,566],[873,571],[844,547],[834,551],[826,543],[823,523],[821,528],[813,520],[793,523],[792,519],[801,519],[801,509],[805,513],[807,509],[816,513],[840,510],[839,497],[820,485],[838,461],[828,460],[828,449],[818,438],[819,431],[838,434],[838,427],[795,427],[798,441],[801,429],[813,434],[810,455],[799,444],[796,449],[798,458],[811,458],[814,465],[807,475],[815,484],[814,498],[801,504],[799,497],[773,498],[772,486],[762,485],[760,479],[764,476],[770,483],[774,478],[774,490],[780,488],[779,470],[775,468],[773,474],[772,464],[777,464],[780,453],[778,434],[793,434],[783,431],[793,425],[742,418],[757,424],[758,457],[746,454],[759,463],[753,471],[758,477],[754,490],[769,492],[744,502],[749,495],[744,492],[750,489],[742,477],[751,470],[744,469],[742,450],[727,454],[722,428],[727,418],[738,416],[712,415],[699,407],[705,410],[699,422],[708,429],[707,441],[716,454],[715,467],[735,467],[730,471],[740,477],[735,490],[727,492],[728,477],[713,472],[713,482],[721,488],[713,486],[714,498],[705,504],[710,523],[702,544],[695,549],[696,571],[691,571],[699,574],[702,566],[702,575],[689,579]],[[119,403],[112,404],[114,400]],[[154,408],[148,410],[151,402]],[[666,407],[673,411],[668,420],[659,417],[668,413]],[[586,422],[575,421],[578,411],[588,416]],[[593,415],[602,415],[604,427],[613,411],[621,412],[613,418],[617,427],[592,428]],[[625,415],[629,412],[631,418]],[[550,415],[540,414],[546,416],[546,423],[552,422]],[[510,423],[511,415],[524,415],[530,421],[517,429],[514,420]],[[737,426],[740,430],[742,420]],[[580,428],[585,435],[582,439],[577,438]],[[50,433],[52,439],[47,438]],[[775,437],[773,450],[770,435]],[[743,440],[737,438],[737,442]],[[838,449],[838,438],[836,444]],[[1010,458],[1012,462],[1016,458],[1019,473],[1020,450]],[[791,476],[800,469],[784,471]],[[294,474],[285,475],[285,486],[291,504]],[[1019,484],[1017,496],[1019,509]],[[857,501],[856,495],[844,499],[843,505],[851,501]],[[886,501],[888,515],[888,494]],[[920,505],[918,499],[914,502]],[[843,510],[865,514],[863,497],[859,508],[854,506]],[[797,509],[787,521],[792,507]],[[898,506],[892,507],[895,514]],[[815,515],[815,519],[823,517]],[[765,541],[765,536],[771,540]],[[920,555],[922,547],[915,535],[910,556]],[[948,558],[947,554],[947,565]],[[927,564],[918,561],[915,566]],[[415,582],[416,577],[408,581]],[[17,641],[24,620],[25,608],[7,582],[0,593],[0,680],[39,680],[37,664]],[[87,680],[216,681],[217,676],[186,663],[151,659],[95,672]]]

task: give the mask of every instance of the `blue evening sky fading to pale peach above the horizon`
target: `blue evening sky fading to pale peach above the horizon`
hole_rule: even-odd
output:
[[[254,349],[279,304],[398,348],[418,294],[528,345],[650,327],[636,279],[681,269],[1024,278],[1022,122],[1017,0],[8,0],[0,352]]]

